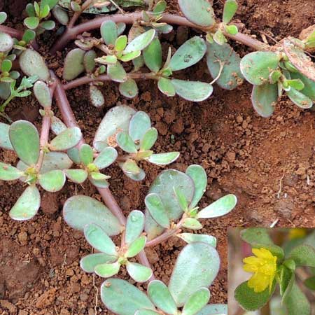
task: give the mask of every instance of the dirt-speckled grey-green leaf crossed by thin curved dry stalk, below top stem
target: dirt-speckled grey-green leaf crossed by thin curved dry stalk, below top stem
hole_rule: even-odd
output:
[[[225,90],[233,90],[241,85],[244,76],[239,69],[241,58],[237,52],[228,43],[207,43],[207,66],[212,78],[217,78],[221,69],[220,62],[223,63],[223,69],[216,84]]]

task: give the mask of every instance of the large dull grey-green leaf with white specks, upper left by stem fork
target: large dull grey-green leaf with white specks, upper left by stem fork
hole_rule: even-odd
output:
[[[28,48],[20,55],[19,62],[21,70],[27,76],[38,76],[40,80],[48,82],[50,78],[48,67],[45,64],[43,57],[41,57],[38,52]]]

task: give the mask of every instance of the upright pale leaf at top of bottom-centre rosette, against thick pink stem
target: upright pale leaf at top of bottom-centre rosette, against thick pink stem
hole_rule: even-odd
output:
[[[130,212],[125,230],[125,243],[131,244],[135,241],[144,230],[144,214],[139,210]]]

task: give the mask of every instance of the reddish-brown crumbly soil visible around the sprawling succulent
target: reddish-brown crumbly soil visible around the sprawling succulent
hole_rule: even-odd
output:
[[[169,10],[176,12],[176,1]],[[222,1],[214,1],[221,14]],[[237,18],[244,22],[243,31],[251,29],[259,39],[281,40],[286,35],[298,36],[303,28],[314,24],[314,0],[239,0]],[[1,5],[1,2],[0,2]],[[11,12],[12,12],[12,7]],[[13,9],[15,10],[15,9]],[[262,33],[260,34],[260,31]],[[181,27],[164,37],[164,49],[177,48],[193,31]],[[50,34],[41,40],[50,43]],[[244,55],[247,48],[232,44]],[[69,48],[72,46],[70,45]],[[48,48],[41,48],[45,54]],[[57,75],[62,75],[62,54],[46,60]],[[209,81],[207,66],[201,62],[183,78]],[[215,87],[205,102],[186,102],[179,97],[167,98],[155,83],[139,83],[139,96],[126,100],[115,83],[102,87],[106,108],[95,109],[88,99],[87,87],[67,94],[82,128],[85,140],[92,143],[97,125],[112,106],[127,104],[146,111],[160,137],[155,151],[181,151],[172,167],[184,170],[188,165],[201,164],[207,171],[208,186],[201,206],[224,194],[235,193],[239,203],[232,214],[204,221],[200,232],[218,238],[222,265],[211,286],[211,302],[227,302],[227,239],[230,226],[270,225],[314,227],[315,130],[314,112],[302,111],[285,97],[279,102],[272,118],[258,117],[250,101],[251,86],[244,83],[238,90],[227,92]],[[54,106],[57,112],[57,107]],[[33,97],[10,103],[7,110],[13,120],[27,119],[41,125],[38,104]],[[0,152],[3,162],[17,162],[14,153]],[[144,163],[146,179],[134,183],[123,176],[116,166],[109,168],[111,190],[127,215],[132,209],[144,210],[144,197],[160,167]],[[107,170],[106,170],[107,172]],[[83,272],[78,262],[91,252],[80,232],[73,231],[62,220],[62,206],[71,195],[84,194],[100,200],[97,191],[85,182],[83,186],[67,183],[59,193],[42,193],[41,209],[27,222],[15,222],[8,216],[23,185],[1,182],[0,198],[0,314],[76,315],[94,313],[97,288],[102,279]],[[174,261],[183,243],[169,239],[146,250],[155,276],[167,282]],[[128,279],[125,270],[120,273]],[[132,281],[131,281],[132,282]],[[140,288],[145,287],[139,286]],[[97,314],[106,311],[98,295]]]

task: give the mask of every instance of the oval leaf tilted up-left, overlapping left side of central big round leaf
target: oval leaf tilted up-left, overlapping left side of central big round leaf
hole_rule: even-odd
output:
[[[169,228],[169,217],[167,216],[167,210],[165,209],[161,197],[155,193],[148,194],[146,195],[144,202],[146,204],[146,208],[156,223],[161,225],[163,228]]]

